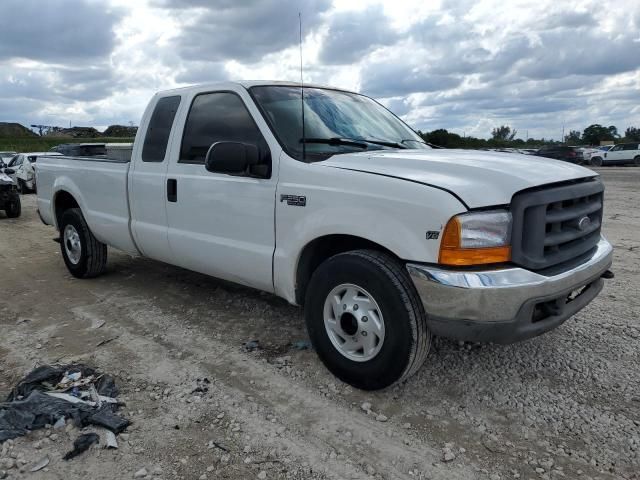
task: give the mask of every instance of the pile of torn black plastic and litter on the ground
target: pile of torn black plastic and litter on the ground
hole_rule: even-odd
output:
[[[113,377],[85,365],[38,367],[0,403],[0,443],[61,418],[79,428],[96,425],[118,434],[130,422],[116,414],[117,395]]]

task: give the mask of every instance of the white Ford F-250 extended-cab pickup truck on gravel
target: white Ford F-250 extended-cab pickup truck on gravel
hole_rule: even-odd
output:
[[[37,183],[76,277],[102,273],[110,245],[274,293],[304,306],[324,364],[362,389],[414,373],[432,334],[551,330],[610,275],[594,172],[431,149],[376,101],[332,88],[161,92],[130,161],[43,157]]]

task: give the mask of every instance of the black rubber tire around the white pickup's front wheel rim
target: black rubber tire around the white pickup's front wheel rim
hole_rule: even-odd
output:
[[[367,361],[343,355],[325,328],[325,300],[342,284],[366,290],[384,318],[383,344]],[[305,319],[311,342],[325,366],[336,377],[363,390],[385,388],[413,375],[424,363],[431,345],[424,308],[404,266],[374,250],[341,253],[322,263],[307,288]]]

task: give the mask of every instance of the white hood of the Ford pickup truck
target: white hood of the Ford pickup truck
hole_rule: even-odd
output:
[[[520,190],[597,176],[559,160],[482,150],[379,150],[334,155],[317,165],[424,183],[449,191],[469,208],[506,205]]]

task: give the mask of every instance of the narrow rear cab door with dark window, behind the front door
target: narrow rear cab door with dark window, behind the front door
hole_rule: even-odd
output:
[[[165,184],[169,145],[175,133],[174,120],[181,97],[172,95],[151,101],[140,131],[142,142],[135,143],[129,171],[131,231],[138,249],[147,257],[172,262],[167,235]],[[140,145],[142,144],[142,145]]]

